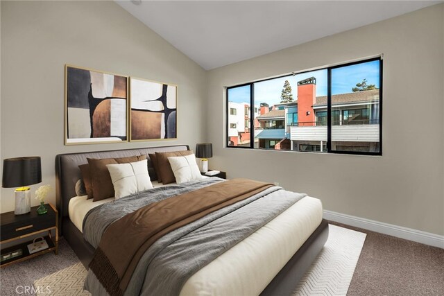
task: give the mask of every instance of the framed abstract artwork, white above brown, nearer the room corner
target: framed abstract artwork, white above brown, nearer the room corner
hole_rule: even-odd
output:
[[[130,141],[177,138],[176,85],[130,77]]]

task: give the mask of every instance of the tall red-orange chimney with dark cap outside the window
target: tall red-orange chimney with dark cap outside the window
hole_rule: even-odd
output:
[[[316,78],[298,81],[298,125],[314,126],[313,105],[316,104]]]

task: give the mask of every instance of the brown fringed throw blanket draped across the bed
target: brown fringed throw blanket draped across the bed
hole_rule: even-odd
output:
[[[158,238],[270,186],[234,179],[148,204],[106,229],[89,268],[110,295],[123,295],[139,259]]]

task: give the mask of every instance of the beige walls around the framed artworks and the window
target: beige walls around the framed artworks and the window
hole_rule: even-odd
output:
[[[214,144],[210,167],[228,177],[278,181],[325,209],[444,234],[444,4],[207,73],[113,2],[0,7],[0,157],[40,155],[42,184],[55,186],[59,153],[205,140]],[[223,148],[225,86],[380,53],[382,157]],[[64,146],[65,63],[177,84],[179,139]],[[13,189],[1,189],[0,205],[13,209]]]

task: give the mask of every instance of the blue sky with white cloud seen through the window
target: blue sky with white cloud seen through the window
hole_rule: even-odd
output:
[[[298,97],[298,81],[312,76],[316,78],[316,96],[327,96],[327,69],[321,69],[296,74],[296,76],[255,82],[255,105],[268,103],[271,106],[280,103],[280,95],[285,80],[289,80],[293,100],[296,100]],[[332,69],[332,94],[352,92],[352,87],[355,87],[364,78],[367,79],[367,85],[376,85],[379,88],[379,60]],[[236,103],[249,103],[250,86],[228,89],[228,99]]]

